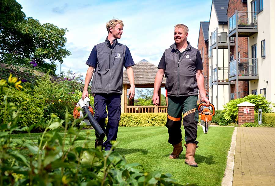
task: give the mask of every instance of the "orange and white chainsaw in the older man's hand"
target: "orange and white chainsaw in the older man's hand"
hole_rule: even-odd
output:
[[[209,103],[209,106],[207,106],[206,102],[202,102],[200,103],[198,110],[200,115],[200,124],[206,134],[208,132],[208,127],[211,124],[212,116],[215,115],[215,107],[212,103]]]

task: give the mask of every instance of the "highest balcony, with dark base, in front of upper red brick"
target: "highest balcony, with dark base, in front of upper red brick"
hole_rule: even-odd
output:
[[[231,17],[228,18],[229,37],[249,37],[258,32],[257,12],[239,12],[236,10]]]

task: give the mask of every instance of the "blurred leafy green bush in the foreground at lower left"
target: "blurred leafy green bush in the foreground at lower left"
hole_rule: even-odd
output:
[[[17,79],[16,79],[17,80]],[[10,86],[21,82],[9,81]],[[5,80],[0,80],[0,93],[7,86]],[[19,87],[19,86],[17,86]],[[20,86],[21,87],[21,86]],[[12,87],[9,87],[9,90]],[[9,90],[7,92],[9,92]],[[6,94],[7,95],[7,94]],[[135,168],[138,163],[127,164],[125,158],[117,152],[89,148],[92,143],[86,137],[79,135],[80,129],[71,123],[71,116],[66,109],[65,120],[60,120],[51,114],[45,131],[37,141],[14,143],[14,131],[27,131],[31,135],[31,126],[18,125],[19,115],[25,102],[18,105],[8,102],[4,96],[4,111],[10,117],[5,117],[0,125],[0,185],[179,185],[171,179],[170,174],[160,172],[148,173]],[[64,124],[64,127],[63,127]],[[63,136],[60,135],[63,132]],[[65,140],[69,136],[68,148]],[[82,146],[75,142],[82,141]],[[66,142],[67,143],[67,142]],[[116,147],[117,143],[113,144]],[[19,149],[28,150],[28,157],[20,154]]]

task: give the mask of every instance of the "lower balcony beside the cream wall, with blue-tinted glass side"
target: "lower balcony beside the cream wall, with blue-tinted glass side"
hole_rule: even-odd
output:
[[[238,63],[237,63],[238,60]],[[237,72],[238,64],[238,72]],[[249,81],[259,79],[258,58],[239,58],[229,62],[229,80]]]

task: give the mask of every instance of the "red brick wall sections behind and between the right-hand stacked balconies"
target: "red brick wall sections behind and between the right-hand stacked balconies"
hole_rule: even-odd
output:
[[[247,3],[242,3],[242,0],[229,0],[227,17],[232,16],[236,10],[247,11]],[[236,43],[236,38],[234,39]],[[248,38],[238,37],[238,52],[240,52],[240,58],[248,58]],[[238,58],[236,55],[235,46],[230,48],[230,56],[234,55],[234,59]],[[248,95],[248,81],[239,80],[239,92],[240,98]],[[231,93],[234,93],[234,99],[237,99],[237,86],[236,84],[231,85]]]

